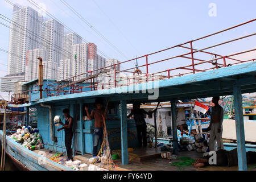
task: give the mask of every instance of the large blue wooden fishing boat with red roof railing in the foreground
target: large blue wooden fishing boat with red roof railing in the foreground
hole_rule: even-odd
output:
[[[243,26],[254,20],[230,27],[226,30],[216,32],[197,40],[203,40],[209,36],[215,36],[224,31],[229,31],[233,28]],[[253,34],[252,34],[253,35]],[[252,36],[250,35],[250,36]],[[246,38],[249,35],[246,36]],[[240,38],[240,39],[243,39]],[[134,101],[141,103],[150,102],[169,102],[171,104],[171,122],[172,122],[172,137],[173,137],[173,152],[177,152],[177,122],[176,122],[176,104],[177,101],[192,100],[196,98],[207,98],[213,96],[234,96],[234,107],[236,110],[236,140],[238,150],[238,166],[240,170],[246,170],[246,145],[243,126],[243,110],[242,110],[242,93],[256,92],[256,63],[254,59],[237,60],[233,56],[241,55],[255,51],[237,52],[233,55],[218,55],[216,53],[207,52],[206,50],[212,47],[220,46],[220,44],[204,49],[193,48],[197,40],[191,40],[175,47],[170,47],[150,53],[135,59],[123,61],[114,65],[110,65],[101,69],[88,71],[82,75],[74,76],[65,80],[43,80],[42,71],[39,72],[39,79],[25,83],[27,93],[21,94],[24,98],[20,98],[23,103],[9,104],[10,107],[34,107],[38,111],[38,130],[42,136],[44,149],[65,152],[64,131],[57,131],[59,127],[53,123],[53,118],[59,115],[63,119],[63,109],[69,108],[71,116],[74,118],[74,137],[73,155],[76,157],[92,154],[93,145],[93,126],[94,121],[88,120],[84,113],[84,107],[89,110],[94,108],[96,98],[102,98],[104,105],[108,103],[108,120],[106,121],[106,130],[108,131],[109,147],[111,150],[120,149],[122,156],[122,165],[129,163],[128,148],[138,146],[136,125],[134,119],[127,119],[127,104],[132,104]],[[229,40],[222,44],[234,42]],[[168,57],[166,51],[176,52],[176,48],[187,50],[188,53]],[[196,59],[195,54],[215,56],[210,60]],[[151,61],[158,57],[158,61]],[[191,57],[187,57],[191,55]],[[155,56],[153,58],[153,56]],[[166,57],[167,56],[167,57]],[[169,55],[170,56],[170,55]],[[190,60],[189,65],[175,67],[175,64],[170,63],[174,59]],[[42,59],[40,60],[39,68],[42,67]],[[145,68],[146,73],[137,72],[136,68],[127,68],[125,70],[117,70],[118,65],[128,63],[129,61],[138,60],[139,68]],[[229,61],[232,61],[232,66],[229,66]],[[144,64],[145,63],[145,64]],[[165,63],[165,64],[164,64]],[[157,65],[164,65],[164,69],[155,71]],[[203,65],[203,67],[201,66]],[[154,70],[154,73],[150,72]],[[40,69],[39,69],[40,70]],[[142,70],[142,69],[141,69]],[[136,71],[136,72],[135,72]],[[121,73],[127,74],[127,77]],[[128,74],[132,74],[130,77]],[[138,74],[137,74],[138,73]],[[100,77],[109,77],[108,82],[102,82]],[[98,79],[96,79],[98,78]],[[94,81],[97,80],[97,82]],[[120,80],[121,79],[121,80]],[[108,86],[107,86],[108,85]],[[16,97],[15,97],[16,98]],[[163,108],[162,108],[163,109]],[[29,109],[28,109],[29,110]],[[29,114],[28,112],[26,114]],[[28,124],[28,118],[26,125]],[[63,120],[64,121],[64,120]],[[1,131],[1,142],[3,131]],[[32,170],[64,170],[65,167],[59,166],[59,163],[52,163],[46,160],[47,164],[38,164],[40,155],[35,154],[36,151],[28,151],[27,148],[15,143],[14,140],[6,138],[6,153],[16,160],[19,160],[24,166]],[[37,151],[39,152],[39,151]]]

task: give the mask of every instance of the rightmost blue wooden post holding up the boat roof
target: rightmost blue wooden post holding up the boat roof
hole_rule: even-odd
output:
[[[245,128],[243,126],[242,92],[241,87],[237,84],[234,84],[234,106],[236,111],[238,168],[240,171],[246,171],[247,162],[245,150]]]

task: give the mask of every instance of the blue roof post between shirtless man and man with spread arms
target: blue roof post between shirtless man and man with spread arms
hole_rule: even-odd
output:
[[[122,164],[128,164],[128,146],[127,146],[127,101],[120,101],[121,104],[121,139],[122,139]]]

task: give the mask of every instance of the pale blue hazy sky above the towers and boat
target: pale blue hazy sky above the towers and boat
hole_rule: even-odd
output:
[[[176,44],[200,38],[201,36],[256,18],[256,1],[254,0],[65,0],[85,20],[92,24],[98,32],[104,35],[109,42],[117,47],[122,52],[120,53],[92,31],[92,28],[82,22],[71,10],[67,9],[60,0],[34,1],[40,3],[49,13],[56,16],[57,19],[61,20],[69,28],[72,28],[82,38],[88,40],[88,42],[96,43],[97,48],[104,52],[105,55],[120,61],[133,59],[136,56],[146,55],[154,51],[159,51],[160,49],[175,46]],[[11,2],[24,6],[29,5],[36,9],[25,0]],[[209,7],[210,3],[216,5],[216,16],[209,15],[209,11],[211,10],[211,7]],[[12,9],[13,7],[9,3],[4,0],[0,1],[0,14],[11,18]],[[0,19],[0,22],[6,23],[3,19]],[[0,48],[8,50],[9,29],[0,24],[0,30]],[[255,30],[256,21],[236,30],[226,32],[225,34],[195,43],[195,48],[204,48],[253,34]],[[255,47],[256,38],[253,36],[237,44],[228,44],[227,46],[214,48],[210,51],[222,55],[229,55],[230,53]],[[177,50],[176,52],[170,52],[165,55],[152,56],[150,61],[164,59],[168,56],[170,57],[170,55],[177,55],[180,52]],[[254,53],[253,56],[256,57],[256,54]],[[247,57],[240,56],[241,59],[247,59]],[[204,58],[209,60],[210,56]],[[184,62],[179,60],[168,63],[164,62],[156,67],[151,67],[150,71],[170,69],[190,63],[186,61],[188,60],[184,60]],[[6,53],[0,52],[0,63],[0,77],[2,77],[6,75],[4,71],[7,70],[7,67],[2,65],[7,64]],[[139,64],[145,64],[144,60],[139,60]],[[132,65],[134,63],[122,65],[122,67],[125,68]],[[144,71],[144,68],[142,70]]]

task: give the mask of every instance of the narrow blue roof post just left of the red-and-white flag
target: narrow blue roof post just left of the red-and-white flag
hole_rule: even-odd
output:
[[[173,153],[177,154],[177,121],[176,121],[176,100],[171,101],[172,110],[172,139],[173,139]]]

